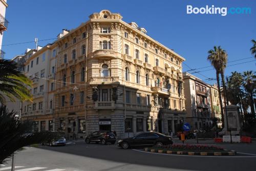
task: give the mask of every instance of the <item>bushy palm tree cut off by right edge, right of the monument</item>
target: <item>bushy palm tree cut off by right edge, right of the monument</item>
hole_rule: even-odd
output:
[[[245,71],[243,74],[244,78],[244,89],[247,91],[249,94],[249,101],[250,101],[250,108],[251,108],[251,114],[255,115],[255,110],[254,110],[254,101],[253,101],[253,96],[255,95],[256,91],[256,76],[254,75],[255,72],[252,72],[251,70]]]

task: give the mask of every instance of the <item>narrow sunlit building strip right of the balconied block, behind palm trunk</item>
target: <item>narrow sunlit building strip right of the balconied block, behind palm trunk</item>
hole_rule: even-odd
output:
[[[221,127],[221,108],[219,100],[218,86],[216,84],[210,86],[210,104],[211,104],[211,117],[220,119],[218,127]]]

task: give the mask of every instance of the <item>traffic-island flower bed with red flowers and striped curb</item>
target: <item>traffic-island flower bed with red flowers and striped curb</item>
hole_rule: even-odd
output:
[[[219,146],[214,145],[199,145],[199,144],[173,144],[163,145],[162,147],[145,148],[147,152],[180,154],[180,155],[203,155],[203,156],[222,156],[236,155],[235,151],[224,150]]]

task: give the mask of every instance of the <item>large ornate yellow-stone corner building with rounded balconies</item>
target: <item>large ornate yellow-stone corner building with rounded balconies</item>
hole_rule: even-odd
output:
[[[97,130],[118,137],[175,132],[185,119],[184,58],[118,13],[89,18],[56,41],[56,128],[69,138]]]

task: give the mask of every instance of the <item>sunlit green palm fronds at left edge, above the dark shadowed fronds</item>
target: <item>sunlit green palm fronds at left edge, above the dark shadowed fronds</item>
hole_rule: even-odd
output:
[[[10,101],[32,100],[30,91],[25,85],[31,86],[31,81],[17,70],[17,63],[10,60],[0,59],[0,103],[5,104],[6,97]]]

